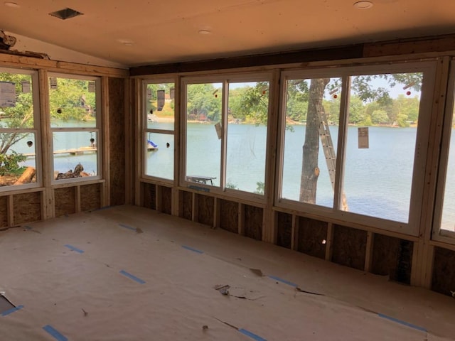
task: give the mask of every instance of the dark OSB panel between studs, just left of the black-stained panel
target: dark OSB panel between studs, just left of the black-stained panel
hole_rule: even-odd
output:
[[[366,242],[367,232],[335,225],[332,261],[363,270],[365,268]]]

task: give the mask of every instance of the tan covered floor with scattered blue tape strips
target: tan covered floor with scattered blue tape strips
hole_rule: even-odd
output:
[[[453,298],[141,207],[8,229],[0,257],[0,340],[455,340]]]

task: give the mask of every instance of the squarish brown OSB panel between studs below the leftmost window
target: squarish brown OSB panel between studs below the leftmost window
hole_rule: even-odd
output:
[[[14,224],[41,220],[41,193],[23,193],[13,196]]]

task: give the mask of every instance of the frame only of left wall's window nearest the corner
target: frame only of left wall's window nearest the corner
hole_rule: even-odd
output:
[[[48,129],[49,129],[49,157],[50,157],[50,172],[51,172],[51,185],[58,186],[58,185],[65,185],[70,183],[85,183],[90,182],[92,180],[101,180],[104,178],[103,176],[103,169],[102,169],[102,160],[103,160],[103,138],[102,138],[102,99],[101,99],[101,77],[98,76],[87,76],[87,75],[78,75],[78,74],[66,74],[66,73],[58,73],[58,72],[48,72],[45,80],[45,86],[48,89],[48,99],[50,101],[50,78],[65,78],[69,80],[87,80],[95,82],[95,96],[96,96],[96,124],[95,126],[91,127],[53,127],[51,126],[50,120],[50,107],[48,107]],[[68,178],[68,179],[60,179],[56,180],[54,176],[55,172],[55,157],[54,157],[54,146],[53,146],[53,134],[59,132],[80,132],[80,131],[95,131],[97,135],[97,175],[82,177],[82,178]]]

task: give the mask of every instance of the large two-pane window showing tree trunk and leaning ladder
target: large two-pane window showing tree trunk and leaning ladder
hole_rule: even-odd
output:
[[[416,233],[432,65],[324,72],[284,73],[279,205]]]

